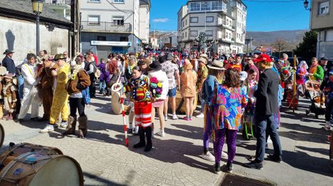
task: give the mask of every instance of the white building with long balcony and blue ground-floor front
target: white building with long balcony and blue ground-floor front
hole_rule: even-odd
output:
[[[150,8],[150,0],[80,1],[80,48],[100,57],[142,50],[148,44]]]

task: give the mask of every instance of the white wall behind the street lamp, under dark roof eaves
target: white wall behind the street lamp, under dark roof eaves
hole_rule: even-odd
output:
[[[36,24],[30,21],[18,19],[9,19],[0,17],[0,53],[7,48],[15,51],[13,59],[19,64],[26,57],[27,53],[36,52]],[[58,48],[58,52],[68,50],[68,31],[55,28],[52,32],[46,29],[46,26],[40,24],[40,50],[47,50],[49,54],[52,50]],[[4,57],[4,55],[3,55]],[[3,57],[0,57],[2,60]]]

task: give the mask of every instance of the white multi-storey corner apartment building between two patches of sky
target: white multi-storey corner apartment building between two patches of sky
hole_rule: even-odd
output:
[[[178,11],[180,50],[191,50],[200,32],[214,53],[244,53],[246,6],[240,0],[189,0]]]

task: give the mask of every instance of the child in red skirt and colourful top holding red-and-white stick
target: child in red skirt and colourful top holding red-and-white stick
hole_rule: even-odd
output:
[[[135,125],[139,127],[140,141],[134,148],[145,147],[144,151],[150,151],[153,147],[151,142],[151,92],[149,78],[142,74],[139,66],[133,68],[133,77],[124,87],[125,92],[131,93],[134,102]],[[147,143],[144,140],[146,134]]]

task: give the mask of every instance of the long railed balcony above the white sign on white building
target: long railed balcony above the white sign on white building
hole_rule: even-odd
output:
[[[81,21],[81,30],[83,32],[131,33],[132,25],[130,23],[117,24],[106,21]]]

